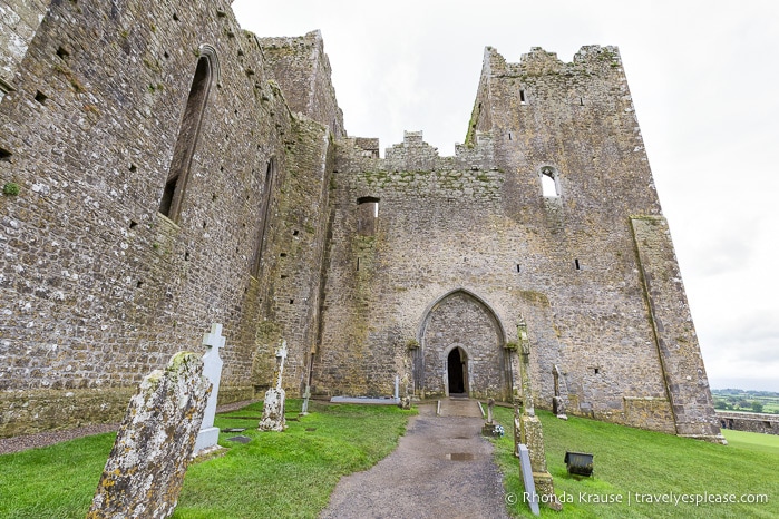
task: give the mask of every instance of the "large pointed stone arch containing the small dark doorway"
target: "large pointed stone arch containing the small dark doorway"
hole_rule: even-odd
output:
[[[465,393],[507,400],[506,334],[480,297],[456,290],[428,307],[415,353],[415,386],[421,395]]]

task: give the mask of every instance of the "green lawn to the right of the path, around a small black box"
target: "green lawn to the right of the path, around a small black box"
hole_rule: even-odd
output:
[[[513,423],[512,410],[496,408],[496,419],[506,431]],[[622,517],[779,517],[779,437],[724,431],[729,445],[678,438],[594,420],[556,419],[538,415],[544,427],[547,468],[555,480],[555,492],[565,497],[562,513],[542,507],[542,516]],[[509,506],[517,517],[533,517],[522,501],[524,487],[519,463],[513,456],[509,433],[496,441],[496,459],[504,472],[507,494],[517,496]],[[566,450],[594,454],[594,476],[569,476],[563,459]],[[581,493],[580,493],[581,492]],[[766,494],[767,503],[640,503],[636,494],[670,499],[685,496]],[[630,494],[630,503],[629,501]],[[673,497],[671,497],[673,494]],[[622,503],[613,502],[621,496]],[[591,502],[585,502],[590,498]],[[592,502],[596,499],[612,502]],[[694,499],[694,498],[693,498]],[[644,500],[646,500],[644,498]]]

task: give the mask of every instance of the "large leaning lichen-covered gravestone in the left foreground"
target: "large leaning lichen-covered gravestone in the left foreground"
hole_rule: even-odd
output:
[[[203,361],[178,352],[130,399],[88,519],[173,515],[203,421],[211,382]]]

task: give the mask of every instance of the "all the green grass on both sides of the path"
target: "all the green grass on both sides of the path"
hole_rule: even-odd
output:
[[[327,405],[312,402],[312,413],[298,418],[299,400],[288,401],[289,429],[256,431],[262,404],[218,414],[216,425],[246,428],[222,433],[230,451],[192,464],[174,515],[187,518],[312,518],[327,506],[341,476],[364,470],[387,456],[412,412],[395,407]],[[555,490],[566,502],[562,513],[542,507],[546,517],[779,517],[779,437],[724,431],[728,447],[593,420],[557,420],[538,412],[544,424],[546,459]],[[497,440],[496,459],[504,472],[509,507],[532,517],[522,502],[519,464],[513,457],[512,410],[496,408],[507,434]],[[250,437],[246,444],[226,441]],[[111,449],[114,434],[81,438],[43,449],[0,456],[0,517],[82,518]],[[568,476],[566,450],[592,452],[593,478]],[[767,503],[636,502],[681,496],[766,494]],[[622,502],[614,501],[617,496]],[[629,503],[630,496],[630,503]],[[586,502],[586,501],[590,502]]]

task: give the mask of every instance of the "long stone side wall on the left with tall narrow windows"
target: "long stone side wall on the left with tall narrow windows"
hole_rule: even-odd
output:
[[[211,88],[168,218],[160,199],[203,57]],[[21,188],[0,197],[0,433],[116,420],[124,405],[107,392],[124,399],[173,352],[199,351],[212,322],[227,339],[222,401],[263,384],[252,369],[272,361],[267,330],[291,337],[300,379],[318,329],[331,144],[291,115],[228,7],[55,2],[14,87],[0,105],[0,184]],[[62,402],[72,419],[31,411]]]

